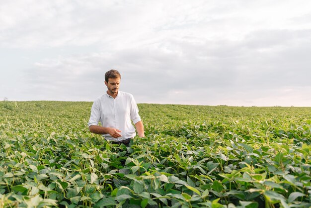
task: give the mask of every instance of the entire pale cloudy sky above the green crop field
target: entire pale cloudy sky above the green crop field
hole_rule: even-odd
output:
[[[310,0],[0,0],[0,100],[311,106]]]

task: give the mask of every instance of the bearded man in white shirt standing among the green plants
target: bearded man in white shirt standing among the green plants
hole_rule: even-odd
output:
[[[140,137],[145,137],[145,133],[134,97],[119,91],[120,80],[121,75],[117,70],[106,72],[107,92],[94,101],[87,124],[90,132],[103,134],[105,139],[112,143],[123,143],[128,146],[130,140],[136,135],[131,120]],[[99,121],[102,126],[98,125]]]

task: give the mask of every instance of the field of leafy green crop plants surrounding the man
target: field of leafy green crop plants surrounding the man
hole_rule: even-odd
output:
[[[0,103],[0,207],[311,206],[311,108],[139,104],[126,147],[91,103]]]

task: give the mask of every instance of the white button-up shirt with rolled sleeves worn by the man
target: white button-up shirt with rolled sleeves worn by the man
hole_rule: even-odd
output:
[[[108,133],[103,134],[103,136],[107,140],[122,141],[136,135],[131,120],[134,124],[141,121],[133,95],[119,91],[114,99],[106,92],[94,101],[87,124],[88,126],[98,125],[100,121],[103,127],[119,129],[121,137],[113,138]]]

